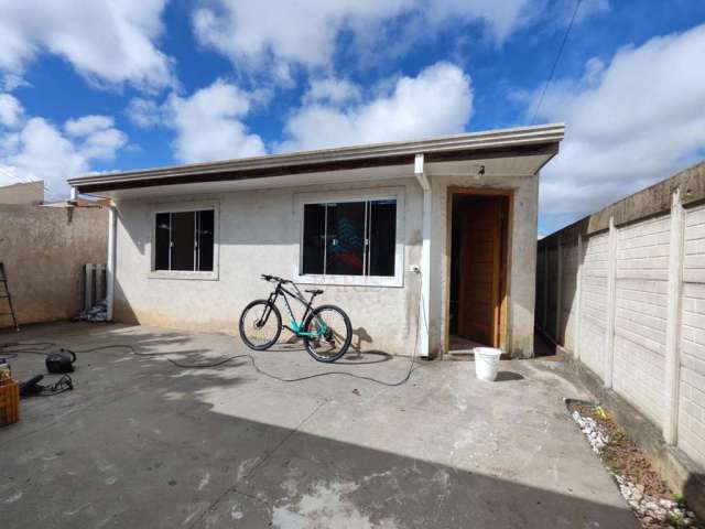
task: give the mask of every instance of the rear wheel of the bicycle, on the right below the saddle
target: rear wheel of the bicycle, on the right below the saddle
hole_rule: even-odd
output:
[[[345,355],[352,341],[350,319],[335,305],[321,305],[304,322],[304,345],[318,361],[335,361]]]

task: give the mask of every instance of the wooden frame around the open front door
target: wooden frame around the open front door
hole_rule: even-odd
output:
[[[445,333],[443,350],[449,353],[451,343],[451,266],[453,261],[453,197],[455,195],[477,195],[477,196],[495,196],[502,197],[507,201],[507,222],[505,224],[505,233],[502,234],[505,270],[500,274],[500,307],[499,307],[499,347],[509,353],[509,295],[510,295],[510,278],[511,278],[511,234],[513,229],[513,205],[514,191],[505,188],[490,187],[464,187],[448,186],[446,195],[446,262],[445,262],[445,292],[444,292],[444,320]]]

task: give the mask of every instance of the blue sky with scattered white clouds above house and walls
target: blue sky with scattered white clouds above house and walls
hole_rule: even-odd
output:
[[[0,185],[567,126],[543,234],[705,158],[705,2],[0,0]]]

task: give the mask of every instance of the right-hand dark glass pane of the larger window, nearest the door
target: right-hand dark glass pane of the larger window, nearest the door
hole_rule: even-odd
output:
[[[370,201],[368,276],[394,276],[397,201]]]

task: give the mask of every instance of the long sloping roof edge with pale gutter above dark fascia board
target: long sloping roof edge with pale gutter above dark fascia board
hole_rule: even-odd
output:
[[[536,172],[553,158],[564,134],[563,123],[470,132],[421,141],[344,147],[291,154],[243,158],[210,163],[100,173],[69,179],[78,193],[113,195],[119,190],[234,182],[274,176],[413,165],[419,153],[425,163],[538,156]],[[166,191],[166,190],[164,190]]]

